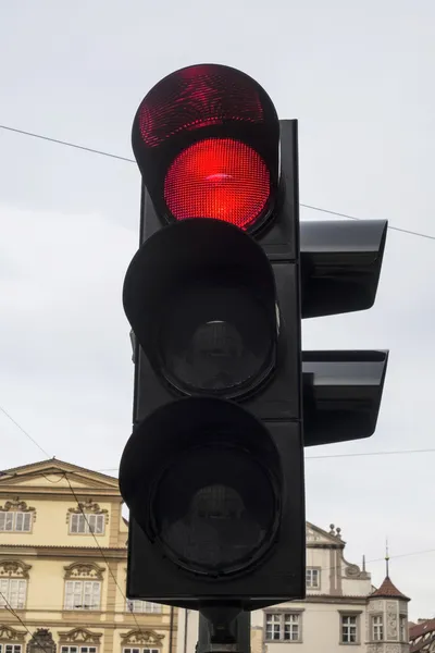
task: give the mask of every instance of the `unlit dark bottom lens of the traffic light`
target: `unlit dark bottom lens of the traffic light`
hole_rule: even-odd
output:
[[[264,552],[277,506],[259,461],[241,449],[214,445],[173,461],[158,485],[153,514],[157,535],[177,564],[222,575]]]

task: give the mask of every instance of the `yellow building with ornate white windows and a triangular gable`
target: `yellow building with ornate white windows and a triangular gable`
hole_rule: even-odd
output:
[[[0,472],[0,653],[176,652],[177,611],[125,599],[121,508],[117,479],[55,458]]]

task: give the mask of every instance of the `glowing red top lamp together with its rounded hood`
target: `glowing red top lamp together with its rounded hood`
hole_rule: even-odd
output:
[[[164,77],[140,103],[132,140],[164,221],[212,218],[251,231],[271,215],[279,124],[245,73],[201,64]]]

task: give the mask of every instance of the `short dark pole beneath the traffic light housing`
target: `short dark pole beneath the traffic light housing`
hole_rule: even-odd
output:
[[[216,617],[214,611],[212,614],[208,612],[208,616],[199,612],[196,653],[250,653],[250,613],[239,613],[234,619]]]

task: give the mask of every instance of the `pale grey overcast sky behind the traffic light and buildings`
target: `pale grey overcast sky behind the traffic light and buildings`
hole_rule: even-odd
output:
[[[153,84],[229,64],[299,120],[302,202],[435,235],[433,0],[244,5],[3,2],[0,123],[130,157]],[[92,469],[116,468],[130,428],[121,289],[139,185],[133,163],[0,130],[0,405],[50,456]],[[308,457],[435,447],[434,261],[434,241],[389,231],[375,307],[304,322],[306,348],[390,349],[375,435]],[[0,445],[2,468],[45,457],[1,414]],[[339,526],[376,584],[388,537],[413,618],[435,616],[434,465],[435,453],[307,460],[307,518]]]

